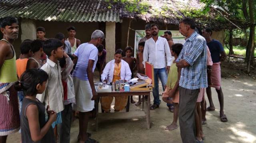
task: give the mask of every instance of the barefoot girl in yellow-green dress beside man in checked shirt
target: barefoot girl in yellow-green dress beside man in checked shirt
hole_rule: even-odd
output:
[[[178,58],[183,45],[182,44],[174,44],[171,47],[171,54],[174,56],[175,60],[173,61],[172,66],[170,67],[170,71],[168,73],[166,88],[163,94],[163,101],[166,103],[174,104],[174,112],[173,112],[173,121],[171,125],[166,127],[166,130],[171,131],[178,128],[178,113],[179,113],[179,81],[180,81],[180,68],[176,66],[176,59]],[[168,97],[172,97],[172,99],[168,99]]]

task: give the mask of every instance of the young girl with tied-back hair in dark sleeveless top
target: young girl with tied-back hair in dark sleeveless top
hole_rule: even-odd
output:
[[[20,115],[23,143],[55,143],[52,123],[56,120],[56,112],[47,107],[49,119],[46,121],[45,107],[36,99],[36,94],[44,92],[47,79],[48,75],[45,71],[29,69],[14,85],[16,90],[23,91],[25,95]]]

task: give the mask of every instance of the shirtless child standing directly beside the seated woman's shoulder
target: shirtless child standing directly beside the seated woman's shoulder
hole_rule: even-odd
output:
[[[122,58],[122,60],[124,60],[125,62],[127,62],[129,64],[130,70],[132,72],[132,78],[133,78],[133,73],[134,73],[134,69],[136,68],[136,58],[132,57],[132,47],[128,46],[125,48],[125,54],[126,57]],[[131,96],[131,103],[135,103],[135,101],[132,99]]]

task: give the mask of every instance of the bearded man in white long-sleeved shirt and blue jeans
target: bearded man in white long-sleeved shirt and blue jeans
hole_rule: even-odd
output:
[[[162,87],[167,81],[167,72],[171,65],[171,52],[168,42],[165,38],[158,36],[159,27],[156,24],[151,25],[152,38],[146,40],[143,52],[143,61],[154,65],[154,104],[150,107],[154,110],[159,107],[161,100],[159,99],[158,77],[161,80]],[[167,58],[167,66],[165,62],[165,54]]]

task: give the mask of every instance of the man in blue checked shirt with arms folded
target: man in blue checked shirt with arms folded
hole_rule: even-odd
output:
[[[194,133],[194,112],[200,88],[207,87],[206,75],[206,40],[195,32],[196,24],[190,18],[180,21],[180,33],[186,37],[186,42],[176,66],[182,68],[179,82],[180,108],[179,122],[180,135],[183,143],[203,143]]]

